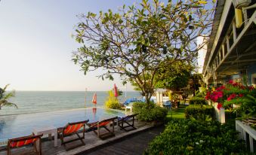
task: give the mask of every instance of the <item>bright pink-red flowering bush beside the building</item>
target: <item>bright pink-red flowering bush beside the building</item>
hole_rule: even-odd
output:
[[[232,108],[233,104],[240,105],[241,99],[247,96],[256,96],[254,87],[245,87],[234,81],[229,81],[226,86],[218,87],[216,90],[208,91],[205,96],[206,100],[217,102],[217,108]]]

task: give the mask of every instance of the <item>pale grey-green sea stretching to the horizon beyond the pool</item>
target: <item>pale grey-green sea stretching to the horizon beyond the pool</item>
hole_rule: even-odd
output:
[[[16,91],[15,97],[10,101],[17,104],[18,108],[3,107],[0,116],[94,107],[91,102],[94,93],[97,93],[96,106],[102,107],[108,96],[106,91]],[[127,92],[126,99],[131,97],[141,99],[139,92]],[[125,92],[119,96],[119,101],[125,102]]]

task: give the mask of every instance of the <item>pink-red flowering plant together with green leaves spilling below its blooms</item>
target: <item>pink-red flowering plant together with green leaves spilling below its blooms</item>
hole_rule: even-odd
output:
[[[256,90],[234,81],[227,85],[208,91],[205,99],[217,102],[217,108],[224,107],[237,113],[245,123],[256,126]]]

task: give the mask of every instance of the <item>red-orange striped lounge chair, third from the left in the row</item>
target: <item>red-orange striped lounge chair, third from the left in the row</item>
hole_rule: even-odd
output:
[[[109,118],[109,119],[106,119],[106,120],[102,120],[102,121],[97,121],[97,122],[94,122],[94,123],[88,123],[87,125],[89,126],[89,128],[86,130],[87,132],[90,132],[90,131],[94,131],[94,133],[97,135],[98,138],[101,138],[101,139],[106,139],[106,138],[109,138],[109,137],[113,137],[115,136],[115,133],[114,133],[114,123],[115,123],[115,120],[117,119],[117,117],[113,117],[113,118]],[[109,124],[109,123],[112,123],[112,129],[108,129],[106,126]],[[106,132],[101,134],[100,133],[100,129],[106,129]]]

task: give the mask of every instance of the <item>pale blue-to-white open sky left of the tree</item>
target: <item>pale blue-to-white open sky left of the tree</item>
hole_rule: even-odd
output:
[[[98,13],[134,0],[2,0],[0,1],[0,87],[9,90],[105,91],[119,77],[102,81],[100,70],[84,75],[72,59],[79,44],[71,37],[78,14]],[[133,90],[128,84],[128,91]]]

